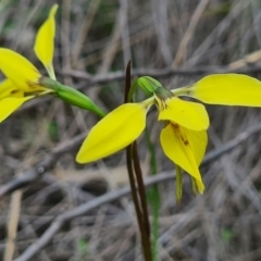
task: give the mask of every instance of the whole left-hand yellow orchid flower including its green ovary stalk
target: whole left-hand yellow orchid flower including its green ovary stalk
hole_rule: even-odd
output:
[[[48,94],[52,94],[70,104],[95,112],[100,116],[105,115],[87,96],[55,80],[52,60],[57,10],[58,4],[54,4],[36,35],[34,46],[35,53],[46,67],[50,78],[44,77],[23,55],[7,48],[0,48],[0,71],[7,77],[5,80],[0,83],[0,122],[4,121],[25,101]]]

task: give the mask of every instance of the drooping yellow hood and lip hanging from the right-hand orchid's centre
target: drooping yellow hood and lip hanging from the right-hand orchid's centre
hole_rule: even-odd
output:
[[[204,107],[177,97],[162,100],[156,96],[156,102],[158,120],[166,122],[160,136],[164,153],[195,178],[197,189],[202,194],[204,186],[198,167],[208,144],[209,116]]]

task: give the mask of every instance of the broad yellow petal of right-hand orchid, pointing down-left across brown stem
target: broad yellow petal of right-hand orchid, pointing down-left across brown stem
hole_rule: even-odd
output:
[[[141,103],[116,108],[90,129],[76,161],[96,161],[132,144],[145,128],[146,113],[147,109]]]

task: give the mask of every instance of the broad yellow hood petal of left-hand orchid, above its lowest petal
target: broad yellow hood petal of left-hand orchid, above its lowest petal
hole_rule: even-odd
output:
[[[7,48],[0,48],[0,70],[13,85],[25,92],[45,89],[39,86],[38,70],[24,57]]]

